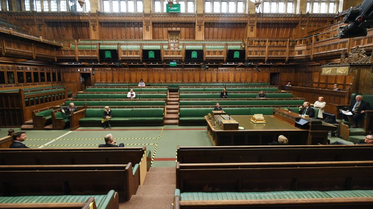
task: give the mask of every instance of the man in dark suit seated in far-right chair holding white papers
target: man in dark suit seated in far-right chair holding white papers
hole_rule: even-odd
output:
[[[362,95],[356,95],[356,100],[352,101],[346,112],[352,113],[352,119],[354,120],[353,128],[357,128],[359,119],[362,119],[365,115],[366,110],[371,110],[371,105],[363,101]],[[343,119],[348,121],[348,116],[343,114]]]

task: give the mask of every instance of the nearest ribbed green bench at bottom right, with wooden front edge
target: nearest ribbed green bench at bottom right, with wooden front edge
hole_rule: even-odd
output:
[[[273,192],[174,192],[177,209],[370,209],[372,190],[351,191],[273,191]]]

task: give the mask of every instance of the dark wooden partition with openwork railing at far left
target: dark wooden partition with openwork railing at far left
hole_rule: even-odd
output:
[[[67,98],[66,88],[28,95],[22,89],[18,92],[0,93],[0,126],[20,126],[32,119],[34,110],[65,104]]]

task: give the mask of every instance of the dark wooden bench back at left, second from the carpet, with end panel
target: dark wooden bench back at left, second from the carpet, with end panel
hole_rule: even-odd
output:
[[[117,165],[0,165],[0,195],[89,195],[119,193],[119,201],[136,194],[139,170]]]

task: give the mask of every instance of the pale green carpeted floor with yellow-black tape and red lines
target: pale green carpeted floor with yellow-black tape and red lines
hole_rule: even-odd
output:
[[[21,131],[14,128],[15,132]],[[8,129],[0,130],[1,136]],[[82,127],[70,132],[64,131],[26,131],[24,144],[30,148],[92,148],[104,144],[103,137],[113,134],[114,140],[124,143],[125,147],[146,147],[152,151],[153,167],[174,167],[176,147],[212,146],[205,126],[152,126],[152,127]]]

